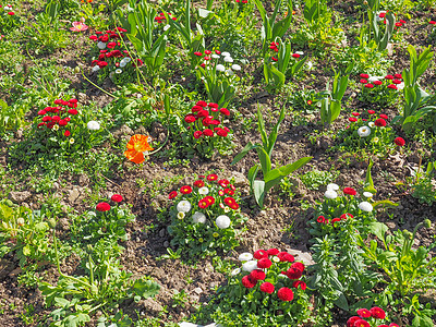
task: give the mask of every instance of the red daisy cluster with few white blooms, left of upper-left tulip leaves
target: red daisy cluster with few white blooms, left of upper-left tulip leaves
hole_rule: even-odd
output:
[[[122,27],[116,27],[106,32],[97,31],[89,39],[97,44],[99,55],[93,59],[90,65],[93,72],[105,69],[109,76],[121,74],[123,70],[143,65],[141,59],[132,60],[128,50],[123,50],[120,38],[128,32]]]

